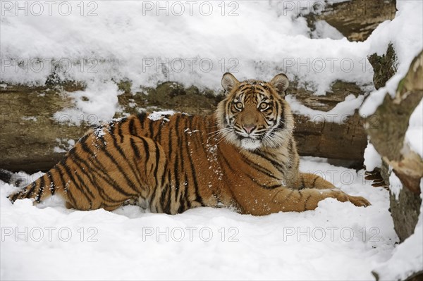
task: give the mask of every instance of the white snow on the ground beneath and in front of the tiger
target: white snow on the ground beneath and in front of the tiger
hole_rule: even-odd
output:
[[[398,242],[388,192],[369,185],[364,170],[322,158],[302,158],[300,168],[372,206],[326,199],[315,211],[261,217],[205,207],[176,216],[137,206],[75,211],[54,197],[38,206],[29,199],[12,205],[6,196],[16,187],[1,183],[0,277],[372,280],[371,271],[391,258]]]

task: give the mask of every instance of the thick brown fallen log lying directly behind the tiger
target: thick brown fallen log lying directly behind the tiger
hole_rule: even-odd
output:
[[[118,84],[123,94],[118,101],[125,113],[173,109],[192,114],[210,114],[222,99],[221,93],[185,88],[175,82],[166,82],[157,88],[130,92],[130,83]],[[73,100],[66,93],[84,89],[78,83],[31,87],[3,85],[0,87],[0,168],[34,173],[49,170],[60,161],[73,142],[84,135],[90,116],[81,115],[80,125],[67,122],[66,114],[53,118],[54,113],[71,108]],[[311,92],[290,87],[298,101],[313,109],[329,111],[345,96],[362,94],[351,83],[336,82],[326,96],[313,96]],[[362,163],[367,137],[362,120],[356,113],[343,124],[314,120],[310,116],[295,115],[295,139],[302,156],[319,156]]]

